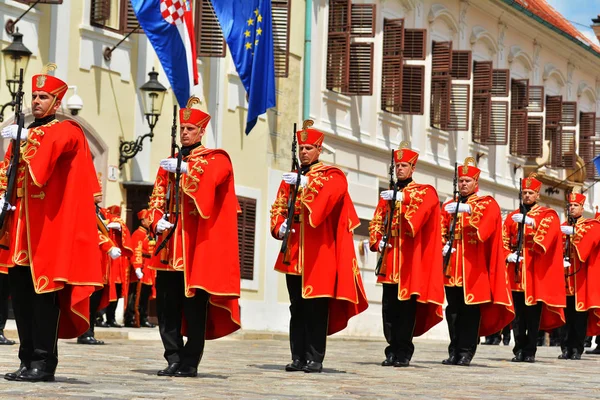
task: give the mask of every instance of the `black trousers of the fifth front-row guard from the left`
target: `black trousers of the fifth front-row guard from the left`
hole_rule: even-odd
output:
[[[465,304],[462,287],[446,286],[446,321],[450,334],[448,354],[472,359],[479,344],[479,305]]]

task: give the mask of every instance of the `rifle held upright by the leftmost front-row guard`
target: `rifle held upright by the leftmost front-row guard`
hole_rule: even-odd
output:
[[[19,87],[15,97],[15,123],[18,126],[17,138],[11,143],[12,154],[10,165],[8,167],[8,183],[6,185],[6,191],[4,192],[4,205],[0,210],[0,230],[3,231],[3,240],[2,244],[0,244],[0,248],[6,250],[8,250],[8,243],[5,243],[5,239],[9,238],[8,232],[4,227],[4,223],[6,222],[8,212],[11,211],[9,209],[9,204],[13,203],[13,197],[15,197],[15,192],[17,189],[17,171],[19,169],[19,161],[21,158],[21,131],[23,130],[23,125],[25,124],[25,116],[23,114],[23,96],[23,68],[21,68],[19,71]]]

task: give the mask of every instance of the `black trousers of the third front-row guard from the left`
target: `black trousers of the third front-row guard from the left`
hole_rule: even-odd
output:
[[[285,276],[290,296],[290,349],[292,360],[322,363],[327,345],[329,299],[302,297],[302,276]]]

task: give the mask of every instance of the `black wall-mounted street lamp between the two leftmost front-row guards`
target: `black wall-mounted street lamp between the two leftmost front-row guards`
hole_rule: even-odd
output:
[[[127,160],[135,157],[135,155],[142,150],[144,139],[149,137],[150,141],[152,141],[152,138],[154,137],[154,127],[158,122],[167,88],[158,81],[158,72],[156,72],[154,68],[148,73],[148,76],[150,76],[150,79],[140,86],[140,91],[142,92],[144,116],[150,126],[150,133],[138,136],[136,140],[127,142],[121,139],[121,144],[119,146],[119,168],[122,168]]]

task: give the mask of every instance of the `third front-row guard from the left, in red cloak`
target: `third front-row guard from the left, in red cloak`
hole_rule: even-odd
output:
[[[324,135],[304,121],[296,132],[300,189],[288,250],[275,270],[285,275],[290,296],[292,363],[286,371],[321,372],[327,335],[341,331],[368,304],[354,253],[352,231],[359,225],[346,175],[319,161]],[[297,171],[285,173],[271,207],[271,234],[281,240],[287,202]]]

